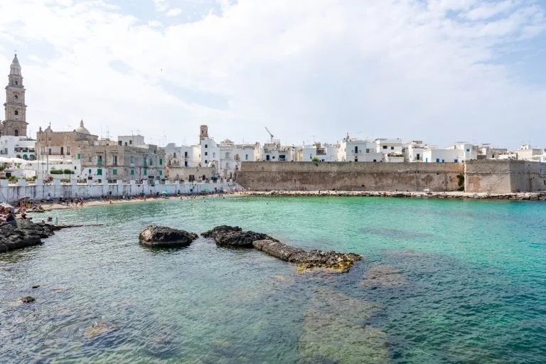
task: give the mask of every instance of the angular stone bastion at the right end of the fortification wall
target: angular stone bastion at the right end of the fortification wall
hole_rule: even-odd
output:
[[[546,190],[546,164],[530,161],[469,161],[465,191],[473,193],[537,192]]]

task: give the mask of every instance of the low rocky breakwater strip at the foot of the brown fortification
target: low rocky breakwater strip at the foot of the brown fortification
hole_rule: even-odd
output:
[[[546,191],[525,193],[466,193],[466,192],[402,192],[402,191],[245,191],[237,196],[262,197],[391,197],[391,198],[448,198],[470,200],[532,200],[546,201]]]

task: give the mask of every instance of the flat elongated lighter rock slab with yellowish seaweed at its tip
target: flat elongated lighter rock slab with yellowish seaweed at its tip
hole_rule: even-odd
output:
[[[305,250],[294,248],[277,240],[258,240],[254,242],[257,250],[262,250],[273,257],[298,264],[299,269],[326,268],[336,272],[346,273],[362,259],[362,256],[353,253],[338,253],[333,250]]]

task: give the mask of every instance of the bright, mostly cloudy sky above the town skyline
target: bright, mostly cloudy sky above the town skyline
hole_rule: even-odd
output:
[[[546,147],[546,0],[1,0],[15,50],[34,137]]]

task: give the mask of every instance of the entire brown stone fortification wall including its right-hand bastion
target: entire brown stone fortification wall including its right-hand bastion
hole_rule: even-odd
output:
[[[461,179],[464,177],[464,181]],[[457,163],[242,162],[235,181],[251,191],[546,191],[546,164],[529,161]],[[464,185],[459,185],[463,183]]]

